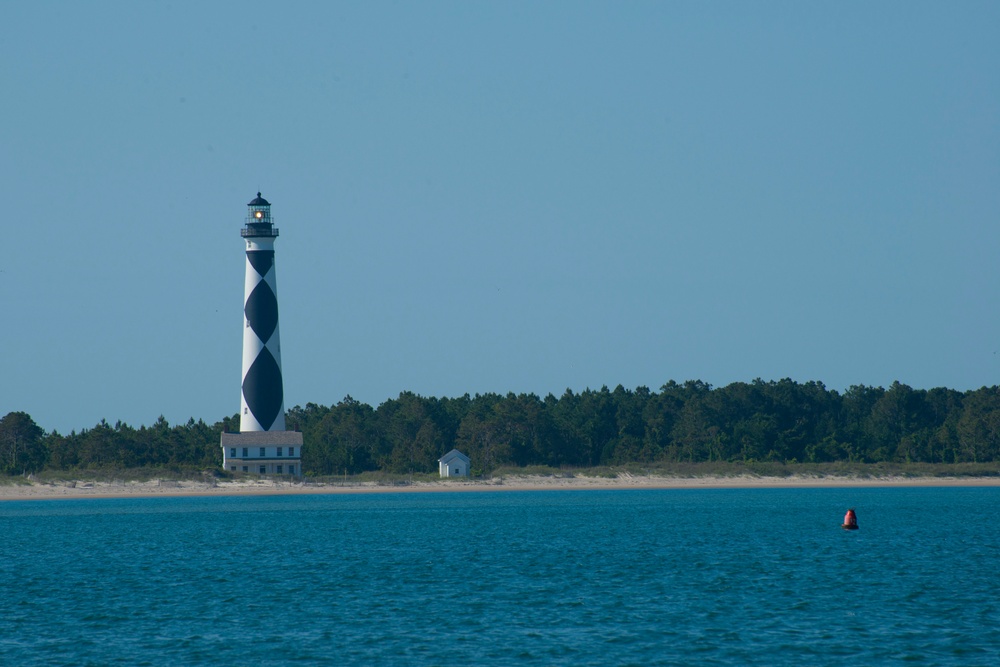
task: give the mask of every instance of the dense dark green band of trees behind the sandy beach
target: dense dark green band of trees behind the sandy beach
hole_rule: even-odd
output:
[[[696,462],[991,463],[1000,461],[1000,388],[973,391],[754,380],[722,388],[697,380],[602,387],[540,398],[477,394],[428,398],[403,392],[377,408],[350,396],[287,411],[303,434],[308,476],[370,471],[429,473],[452,448],[473,471]],[[24,412],[0,419],[0,471],[221,466],[223,430],[193,419],[171,426],[102,421],[63,435]]]

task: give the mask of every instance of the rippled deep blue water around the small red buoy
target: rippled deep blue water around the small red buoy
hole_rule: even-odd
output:
[[[2,665],[996,665],[998,584],[995,488],[0,503]]]

